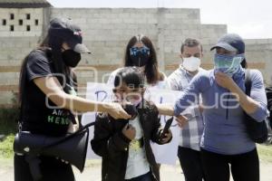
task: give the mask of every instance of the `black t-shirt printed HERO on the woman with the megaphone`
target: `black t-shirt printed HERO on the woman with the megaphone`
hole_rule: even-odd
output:
[[[48,58],[46,52],[35,50],[30,52],[24,68],[26,72],[25,83],[22,85],[22,130],[49,136],[64,135],[70,122],[74,120],[73,114],[70,110],[59,109],[34,83],[35,78],[55,76],[53,61]],[[72,84],[64,82],[63,90],[74,94]]]

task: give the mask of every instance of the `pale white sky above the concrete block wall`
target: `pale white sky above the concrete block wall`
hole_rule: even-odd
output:
[[[271,0],[47,0],[54,7],[199,8],[201,24],[227,24],[246,39],[272,38]]]

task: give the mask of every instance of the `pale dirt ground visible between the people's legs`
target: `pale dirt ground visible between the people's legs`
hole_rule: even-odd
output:
[[[5,160],[5,163],[0,163],[0,180],[13,181],[14,170],[12,160]],[[80,173],[76,168],[73,169],[77,181],[100,181],[101,180],[101,161],[88,160],[83,173]],[[161,181],[184,181],[184,176],[181,172],[180,165],[167,166],[162,165],[160,168]],[[272,163],[260,161],[260,181],[272,180]]]

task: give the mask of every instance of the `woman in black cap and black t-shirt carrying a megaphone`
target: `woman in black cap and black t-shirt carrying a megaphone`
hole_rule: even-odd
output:
[[[76,124],[73,111],[102,111],[115,119],[130,118],[119,104],[76,96],[72,68],[80,62],[81,53],[89,52],[82,42],[77,25],[55,18],[41,46],[26,56],[20,77],[20,130],[50,137],[64,136]],[[32,161],[15,154],[15,181],[74,180],[71,165],[60,159],[35,157],[38,167],[31,167]]]

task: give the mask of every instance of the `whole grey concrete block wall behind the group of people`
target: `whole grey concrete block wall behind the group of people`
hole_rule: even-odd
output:
[[[13,22],[9,20],[10,12],[15,14]],[[10,33],[6,27],[17,23],[25,14],[39,19],[41,24],[33,33],[25,33],[18,26],[15,26],[15,32]],[[209,52],[209,48],[227,33],[226,24],[201,24],[199,9],[0,9],[0,20],[6,18],[7,24],[6,27],[0,24],[0,106],[11,103],[13,91],[16,92],[18,87],[21,62],[37,46],[53,17],[69,17],[79,24],[83,29],[83,42],[92,51],[92,55],[83,55],[79,68],[75,70],[79,86],[82,87],[80,94],[84,93],[87,81],[107,80],[105,74],[121,66],[126,44],[135,34],[143,33],[151,38],[160,70],[169,75],[180,64],[180,45],[186,38],[200,40],[204,50],[203,67],[210,69],[213,66],[213,52]],[[246,44],[249,66],[262,71],[269,82],[272,40],[246,40]]]

